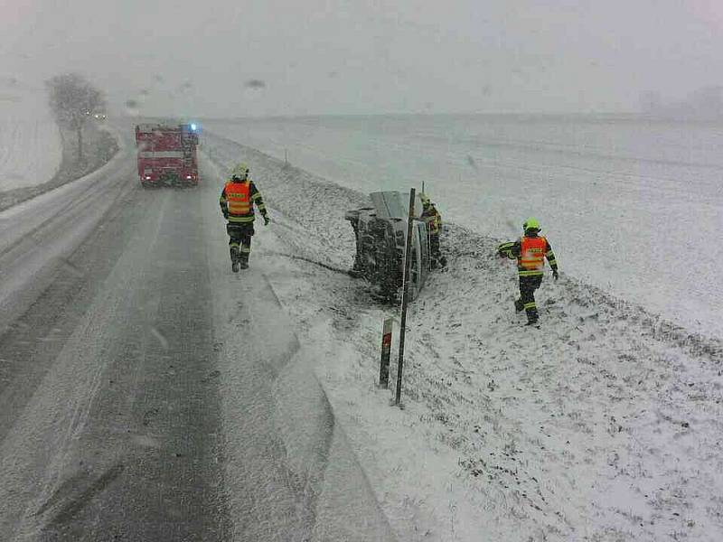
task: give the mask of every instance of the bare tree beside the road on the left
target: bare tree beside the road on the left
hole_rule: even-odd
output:
[[[83,159],[83,125],[105,108],[103,93],[78,73],[62,73],[46,82],[58,124],[78,134],[78,161]]]

